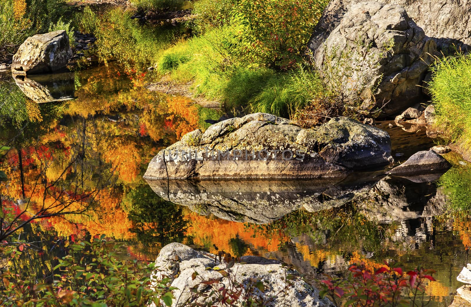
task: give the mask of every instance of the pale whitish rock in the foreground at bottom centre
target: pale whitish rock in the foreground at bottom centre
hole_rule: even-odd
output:
[[[205,284],[203,280],[217,279],[218,288],[230,288],[229,280],[247,284],[251,279],[260,280],[265,291],[254,291],[252,295],[267,299],[267,307],[330,307],[333,306],[328,299],[320,299],[319,291],[306,283],[296,271],[283,267],[276,260],[267,260],[261,257],[244,256],[241,262],[235,263],[230,268],[229,274],[227,264],[218,257],[207,252],[196,252],[192,248],[171,243],[164,246],[155,260],[157,270],[152,275],[154,280],[161,280],[168,276],[171,280],[171,287],[176,287],[173,294],[172,307],[187,306],[192,300],[202,303],[205,299],[202,296],[194,297],[190,288],[197,286],[200,291]],[[198,273],[196,278],[192,278],[194,272]],[[292,274],[292,286],[287,284],[286,276]],[[229,276],[229,277],[228,277]],[[208,294],[209,291],[208,291]],[[214,295],[214,294],[213,294]],[[244,295],[242,295],[243,297]],[[271,299],[270,299],[271,298]],[[235,303],[238,306],[241,302]],[[216,306],[223,306],[222,304]],[[242,306],[242,305],[240,305]]]

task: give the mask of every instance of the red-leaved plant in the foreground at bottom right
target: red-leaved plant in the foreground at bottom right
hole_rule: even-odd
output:
[[[336,306],[344,307],[422,307],[430,303],[425,299],[425,285],[426,280],[435,281],[435,271],[419,267],[404,273],[396,265],[385,264],[372,271],[362,261],[349,268],[347,279],[327,276],[320,282],[320,296],[328,294]]]

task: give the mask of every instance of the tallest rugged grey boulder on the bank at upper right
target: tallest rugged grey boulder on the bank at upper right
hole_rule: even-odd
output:
[[[326,78],[341,79],[330,76],[332,71],[344,76],[349,100],[391,115],[422,97],[417,85],[433,62],[436,43],[403,7],[367,1],[352,4],[313,51]]]

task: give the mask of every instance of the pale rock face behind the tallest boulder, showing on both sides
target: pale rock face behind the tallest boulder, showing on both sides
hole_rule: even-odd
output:
[[[321,46],[341,22],[349,8],[363,0],[331,0],[313,31],[308,47],[312,51]],[[471,44],[471,2],[450,0],[382,0],[406,9],[408,16],[434,39],[439,48],[451,44],[468,48]]]

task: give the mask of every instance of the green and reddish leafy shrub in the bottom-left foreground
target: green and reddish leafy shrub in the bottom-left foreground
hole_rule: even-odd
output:
[[[33,272],[25,279],[3,272],[2,306],[170,306],[169,280],[154,281],[154,264],[120,260],[120,244],[95,238],[73,244],[72,253],[58,260],[53,281],[39,281]],[[24,247],[23,247],[24,248]],[[20,248],[23,250],[23,248]],[[122,248],[122,246],[121,246]],[[21,253],[17,250],[16,253]]]

